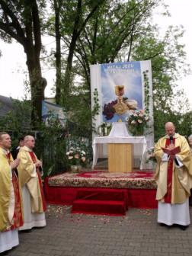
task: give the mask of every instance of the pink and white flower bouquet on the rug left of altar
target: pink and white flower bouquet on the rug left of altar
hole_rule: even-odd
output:
[[[86,165],[86,152],[82,149],[76,148],[76,149],[69,149],[68,152],[66,152],[69,165],[72,169],[72,171],[80,171],[82,169],[82,166]]]

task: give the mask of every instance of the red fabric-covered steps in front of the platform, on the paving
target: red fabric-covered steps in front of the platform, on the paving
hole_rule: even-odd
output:
[[[72,213],[123,216],[127,210],[126,190],[78,190]]]

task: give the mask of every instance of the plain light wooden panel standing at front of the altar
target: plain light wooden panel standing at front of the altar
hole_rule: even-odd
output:
[[[131,172],[133,167],[133,144],[108,144],[108,171]]]

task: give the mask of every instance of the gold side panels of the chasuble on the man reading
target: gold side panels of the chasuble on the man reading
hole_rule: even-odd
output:
[[[157,159],[157,167],[155,171],[155,180],[158,184],[156,200],[164,202],[164,197],[168,192],[168,161],[162,161],[168,136],[164,136],[158,140],[155,145],[155,158]],[[171,180],[171,204],[184,203],[190,196],[190,187],[192,187],[192,170],[190,168],[190,147],[187,139],[178,133],[174,134],[174,146],[179,146],[181,152],[176,156],[182,163],[181,167],[172,165],[172,180]]]

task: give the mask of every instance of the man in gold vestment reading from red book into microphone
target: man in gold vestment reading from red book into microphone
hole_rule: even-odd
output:
[[[165,123],[165,132],[166,136],[155,145],[158,222],[167,226],[177,224],[184,230],[190,224],[190,147],[184,136],[175,133],[173,123]]]

